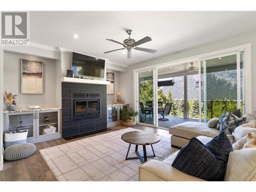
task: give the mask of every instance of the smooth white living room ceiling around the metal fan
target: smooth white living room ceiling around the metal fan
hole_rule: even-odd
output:
[[[125,65],[256,29],[256,11],[32,11],[30,18],[32,42],[76,50]],[[122,48],[105,39],[122,42],[127,38],[126,29],[133,30],[131,37],[135,40],[152,37],[152,41],[139,47],[158,52],[132,50],[131,59],[127,59],[122,50],[103,54]],[[77,34],[78,38],[74,39],[72,34]]]

